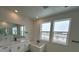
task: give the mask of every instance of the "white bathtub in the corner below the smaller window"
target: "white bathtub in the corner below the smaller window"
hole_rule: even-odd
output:
[[[40,42],[40,43],[30,42],[30,50],[32,52],[44,52],[45,44],[46,43],[43,43],[43,42]]]

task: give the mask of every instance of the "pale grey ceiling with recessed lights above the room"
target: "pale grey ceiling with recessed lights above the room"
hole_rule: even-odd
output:
[[[13,11],[18,10],[17,14],[20,14],[25,17],[29,17],[31,19],[35,19],[36,17],[42,18],[50,15],[59,14],[62,12],[71,11],[79,8],[78,6],[48,6],[43,8],[44,6],[6,6],[3,7],[7,10]]]

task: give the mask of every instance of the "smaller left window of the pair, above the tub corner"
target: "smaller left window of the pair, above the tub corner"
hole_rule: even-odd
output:
[[[41,24],[40,33],[41,40],[49,41],[50,22]]]

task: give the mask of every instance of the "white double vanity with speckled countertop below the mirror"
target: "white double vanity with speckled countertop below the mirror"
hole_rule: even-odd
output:
[[[25,52],[28,50],[29,43],[15,41],[1,41],[0,52]]]

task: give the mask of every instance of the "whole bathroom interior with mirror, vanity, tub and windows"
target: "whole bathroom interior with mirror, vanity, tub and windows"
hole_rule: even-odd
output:
[[[0,6],[0,52],[79,52],[78,24],[79,6]]]

